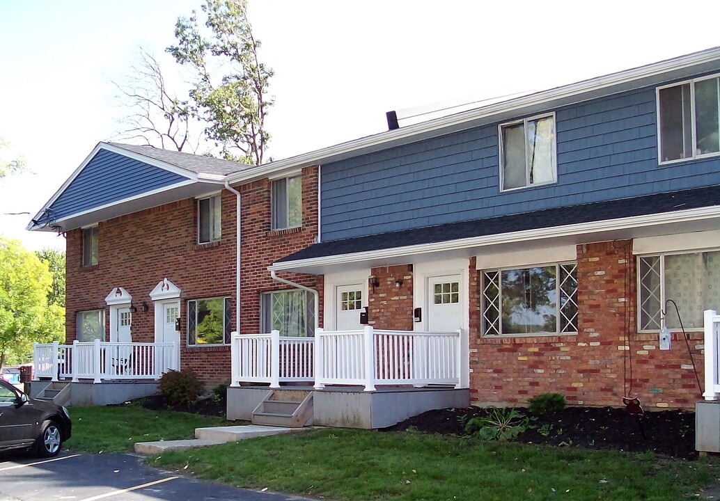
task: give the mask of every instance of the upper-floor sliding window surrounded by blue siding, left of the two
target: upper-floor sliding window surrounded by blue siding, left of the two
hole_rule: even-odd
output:
[[[526,188],[555,181],[555,115],[500,125],[501,189]]]

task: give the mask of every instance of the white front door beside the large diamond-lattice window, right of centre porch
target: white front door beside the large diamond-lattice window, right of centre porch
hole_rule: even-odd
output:
[[[453,332],[462,328],[462,276],[428,278],[428,331]]]

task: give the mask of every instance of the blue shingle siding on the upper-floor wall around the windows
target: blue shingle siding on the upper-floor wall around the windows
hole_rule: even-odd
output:
[[[500,192],[498,124],[322,166],[323,240],[720,184],[720,158],[657,164],[655,89],[549,109],[557,184]]]

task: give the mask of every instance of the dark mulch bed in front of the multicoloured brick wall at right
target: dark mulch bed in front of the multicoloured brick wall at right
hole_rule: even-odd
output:
[[[526,409],[518,407],[516,410],[531,415]],[[486,414],[480,407],[431,410],[386,430],[414,428],[425,433],[465,435],[464,423],[474,416]],[[629,415],[624,407],[566,407],[559,412],[534,417],[531,428],[519,435],[518,442],[626,452],[653,451],[681,459],[698,457],[694,412],[645,412],[638,419]]]

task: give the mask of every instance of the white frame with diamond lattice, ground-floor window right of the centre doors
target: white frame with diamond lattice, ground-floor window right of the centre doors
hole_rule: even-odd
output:
[[[508,270],[525,270],[528,268],[546,268],[549,266],[555,266],[556,271],[559,271],[561,267],[563,266],[573,266],[574,272],[575,272],[575,315],[572,316],[572,318],[568,319],[568,325],[572,325],[572,320],[575,321],[575,328],[577,329],[578,325],[577,322],[579,320],[579,310],[580,307],[577,304],[577,261],[562,261],[562,262],[556,262],[556,263],[535,263],[535,264],[525,264],[521,266],[503,266],[499,268],[487,268],[480,270],[480,335],[483,338],[527,338],[527,337],[536,337],[536,336],[549,336],[549,335],[577,335],[577,330],[562,330],[561,328],[561,317],[564,316],[567,319],[567,315],[564,315],[562,313],[562,305],[560,304],[560,301],[557,301],[557,304],[555,306],[555,317],[556,317],[556,323],[555,323],[555,330],[554,332],[541,332],[541,333],[507,333],[503,334],[503,312],[502,312],[502,297],[503,293],[502,290],[499,289],[499,286],[502,285],[502,274],[503,271]],[[487,317],[485,316],[485,312],[487,310],[487,297],[486,297],[486,279],[485,274],[489,273],[497,273],[498,274],[498,282],[495,282],[495,285],[498,286],[498,299],[500,299],[500,304],[495,304],[496,309],[498,310],[498,320],[497,320],[497,326],[495,327],[496,333],[489,333],[490,329],[486,328],[486,324],[488,322]],[[559,275],[556,274],[556,290],[559,291],[562,286],[562,283],[559,281]],[[558,294],[558,299],[559,299]]]

